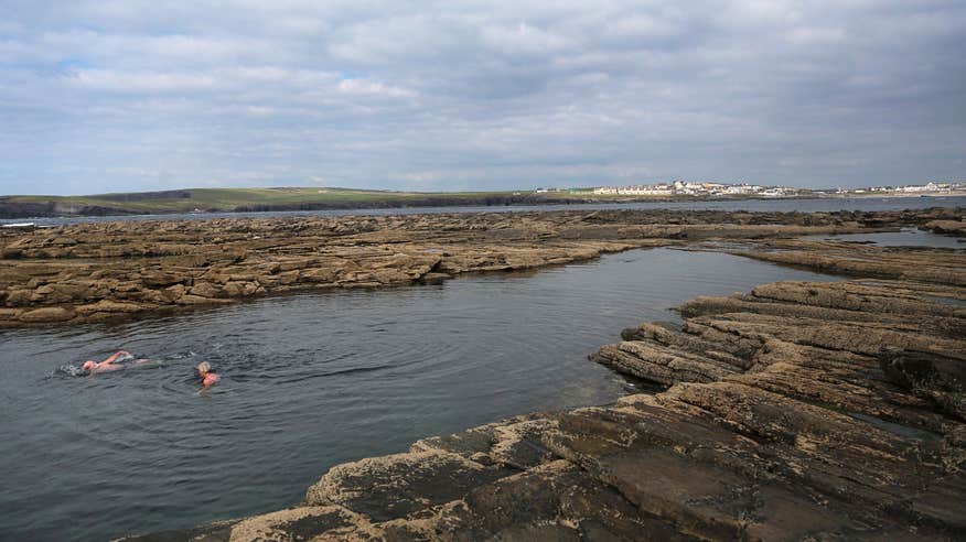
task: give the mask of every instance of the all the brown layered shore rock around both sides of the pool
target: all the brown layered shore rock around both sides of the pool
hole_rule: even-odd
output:
[[[966,536],[966,252],[795,237],[962,224],[960,209],[930,209],[84,225],[3,238],[0,322],[411,284],[635,247],[849,275],[698,297],[680,322],[625,329],[592,356],[663,391],[426,438],[331,468],[298,507],[129,540],[949,540]]]

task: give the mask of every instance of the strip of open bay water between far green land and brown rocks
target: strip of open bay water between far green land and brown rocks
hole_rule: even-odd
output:
[[[266,213],[201,213],[106,217],[8,218],[0,224],[31,221],[40,226],[112,220],[204,220],[212,218],[270,218],[290,216],[382,216],[438,213],[513,213],[530,210],[677,209],[831,213],[837,210],[902,210],[929,207],[966,207],[966,196],[829,197],[815,199],[720,199],[706,202],[641,202],[629,204],[493,205],[481,207],[402,207],[395,209],[279,210]]]

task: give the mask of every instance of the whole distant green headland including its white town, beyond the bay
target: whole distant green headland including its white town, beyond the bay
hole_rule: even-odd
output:
[[[394,192],[335,187],[185,188],[86,196],[0,196],[0,218],[925,195],[966,195],[966,185],[954,182],[922,186],[809,189],[676,181],[654,185],[503,192]]]

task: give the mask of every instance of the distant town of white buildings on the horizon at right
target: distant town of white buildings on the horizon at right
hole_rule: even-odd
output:
[[[788,186],[763,186],[758,184],[729,184],[716,182],[674,181],[657,184],[626,186],[598,186],[593,188],[537,188],[537,193],[569,192],[575,195],[611,196],[848,196],[848,195],[943,195],[962,194],[966,182],[930,182],[922,185],[867,186],[862,188],[796,188]]]

